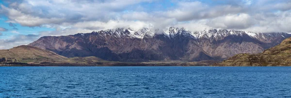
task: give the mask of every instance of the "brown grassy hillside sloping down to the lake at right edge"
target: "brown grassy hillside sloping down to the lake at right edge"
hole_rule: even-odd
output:
[[[238,54],[215,66],[291,66],[291,38],[260,54]]]

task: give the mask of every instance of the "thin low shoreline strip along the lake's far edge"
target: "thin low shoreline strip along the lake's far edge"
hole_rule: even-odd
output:
[[[214,62],[98,62],[93,64],[72,64],[72,63],[40,63],[29,64],[20,62],[0,63],[0,67],[290,67],[290,66],[217,66]]]

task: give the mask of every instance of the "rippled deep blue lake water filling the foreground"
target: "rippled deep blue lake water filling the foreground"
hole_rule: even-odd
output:
[[[291,67],[0,67],[6,97],[291,97]]]

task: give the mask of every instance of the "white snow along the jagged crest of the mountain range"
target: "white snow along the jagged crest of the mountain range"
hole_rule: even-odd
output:
[[[101,34],[101,36],[115,36],[117,38],[120,37],[130,37],[130,38],[137,38],[137,39],[144,39],[146,38],[152,38],[156,35],[155,32],[159,31],[159,29],[156,29],[155,31],[150,30],[149,28],[142,28],[138,30],[134,30],[131,28],[114,28],[114,29],[106,29],[101,31],[93,31],[92,33]],[[244,31],[244,30],[226,30],[226,29],[204,29],[203,31],[195,31],[191,32],[189,30],[186,30],[185,28],[166,28],[162,30],[162,34],[169,38],[174,38],[177,35],[184,35],[184,36],[192,36],[195,39],[222,39],[228,35],[236,35],[236,36],[242,36],[243,34],[246,34],[252,38],[259,39],[263,38],[265,39],[266,36],[278,36],[277,33],[259,33],[259,32],[250,32],[250,31]],[[282,37],[285,37],[284,34],[280,34]]]

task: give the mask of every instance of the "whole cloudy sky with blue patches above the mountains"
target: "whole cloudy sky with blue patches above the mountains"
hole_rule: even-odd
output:
[[[0,49],[111,28],[291,33],[291,0],[0,0]]]

